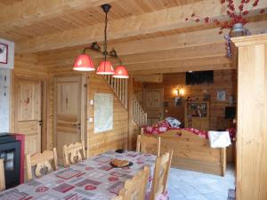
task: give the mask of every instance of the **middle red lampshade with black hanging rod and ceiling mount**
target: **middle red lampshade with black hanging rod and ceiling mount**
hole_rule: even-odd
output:
[[[101,61],[100,66],[97,68],[96,74],[97,75],[114,75],[114,68],[112,67],[111,63],[107,61],[107,28],[108,28],[108,12],[111,8],[110,4],[102,4],[101,8],[105,12],[105,30],[104,30],[104,35],[105,35],[105,40],[104,40],[104,60]]]

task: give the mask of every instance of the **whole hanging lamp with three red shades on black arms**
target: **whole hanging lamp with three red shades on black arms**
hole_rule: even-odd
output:
[[[101,61],[99,67],[96,70],[97,75],[112,75],[114,78],[129,78],[129,74],[125,66],[123,66],[122,61],[118,58],[117,52],[113,49],[111,52],[108,52],[108,44],[107,44],[107,28],[108,28],[108,12],[111,8],[110,4],[102,4],[102,10],[105,12],[105,29],[104,29],[104,51],[102,52],[104,55],[104,60]],[[93,67],[92,59],[85,54],[86,49],[91,49],[97,52],[101,52],[100,46],[94,42],[90,48],[85,48],[84,53],[77,57],[75,60],[75,64],[73,69],[77,71],[93,71],[95,68]],[[120,65],[117,66],[116,70],[112,67],[110,61],[107,60],[107,56],[111,56],[117,58],[120,62]]]

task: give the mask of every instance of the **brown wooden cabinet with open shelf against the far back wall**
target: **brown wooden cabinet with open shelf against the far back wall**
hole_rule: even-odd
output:
[[[198,130],[209,130],[209,102],[188,101],[184,108],[184,126]]]

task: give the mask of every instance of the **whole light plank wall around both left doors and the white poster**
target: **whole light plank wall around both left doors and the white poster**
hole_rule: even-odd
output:
[[[45,80],[47,85],[47,117],[45,119],[47,123],[46,127],[46,139],[45,149],[53,148],[53,87],[54,76],[71,76],[71,75],[84,75],[73,71],[71,67],[54,67],[46,68],[40,64],[36,55],[17,55],[15,57],[13,76],[22,77],[39,77]],[[88,100],[93,98],[94,92],[113,93],[109,88],[109,85],[105,83],[105,80],[101,76],[89,75],[88,78]],[[14,85],[12,85],[14,87]],[[14,132],[14,90],[12,88],[12,132]],[[88,105],[87,115],[93,117],[93,106]],[[114,129],[110,132],[94,134],[93,124],[87,125],[87,144],[89,144],[88,153],[89,156],[101,153],[111,148],[124,148],[127,143],[128,132],[128,113],[127,110],[120,104],[114,95]]]

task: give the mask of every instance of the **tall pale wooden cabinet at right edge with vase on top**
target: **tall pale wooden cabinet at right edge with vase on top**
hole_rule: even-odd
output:
[[[267,199],[267,34],[232,38],[239,47],[237,200]]]

